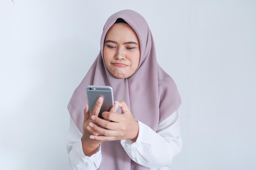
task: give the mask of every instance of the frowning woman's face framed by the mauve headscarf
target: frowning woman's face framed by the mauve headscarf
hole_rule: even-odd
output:
[[[117,78],[130,77],[139,66],[139,40],[125,23],[110,27],[105,37],[103,57],[108,71]]]

